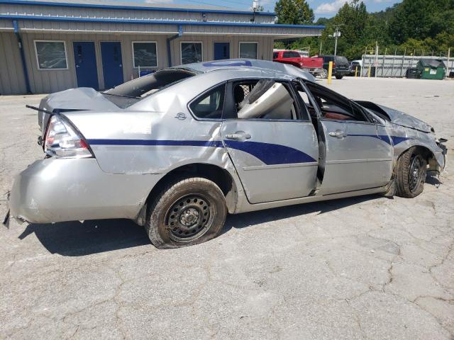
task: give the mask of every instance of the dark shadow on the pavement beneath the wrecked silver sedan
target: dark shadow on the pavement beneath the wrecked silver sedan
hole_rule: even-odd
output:
[[[358,196],[229,215],[222,234],[233,227],[244,228],[311,212],[323,214],[345,208],[348,205],[373,200],[377,197],[380,196]],[[83,223],[74,221],[46,225],[31,224],[26,227],[18,238],[25,239],[30,234],[35,234],[41,244],[51,254],[60,254],[62,256],[86,256],[146,244],[151,246],[145,229],[131,220],[92,220]]]

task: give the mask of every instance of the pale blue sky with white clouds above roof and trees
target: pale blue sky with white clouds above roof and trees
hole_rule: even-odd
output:
[[[123,0],[124,1],[124,0]],[[147,2],[150,4],[184,4],[184,5],[211,5],[223,6],[247,10],[252,6],[253,0],[127,0],[130,2]],[[259,0],[259,3],[265,8],[265,11],[274,11],[277,0]],[[343,4],[348,0],[308,0],[309,6],[314,9],[316,19],[325,17],[331,18],[336,15]],[[367,6],[367,11],[381,11],[384,8],[392,6],[401,0],[363,0]]]

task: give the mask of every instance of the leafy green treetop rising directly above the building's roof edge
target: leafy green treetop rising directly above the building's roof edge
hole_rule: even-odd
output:
[[[301,25],[314,22],[314,11],[306,0],[279,0],[275,6],[277,23]]]

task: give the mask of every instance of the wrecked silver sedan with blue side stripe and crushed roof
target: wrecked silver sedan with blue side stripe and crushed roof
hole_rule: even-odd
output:
[[[17,176],[11,215],[128,218],[158,248],[216,237],[227,213],[414,198],[426,171],[445,166],[444,140],[421,120],[259,60],[172,67],[104,93],[71,89],[36,109],[45,158]]]

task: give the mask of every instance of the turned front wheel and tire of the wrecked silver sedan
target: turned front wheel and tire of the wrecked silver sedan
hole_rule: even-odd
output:
[[[396,194],[414,198],[423,192],[427,161],[416,147],[406,150],[397,160]]]

